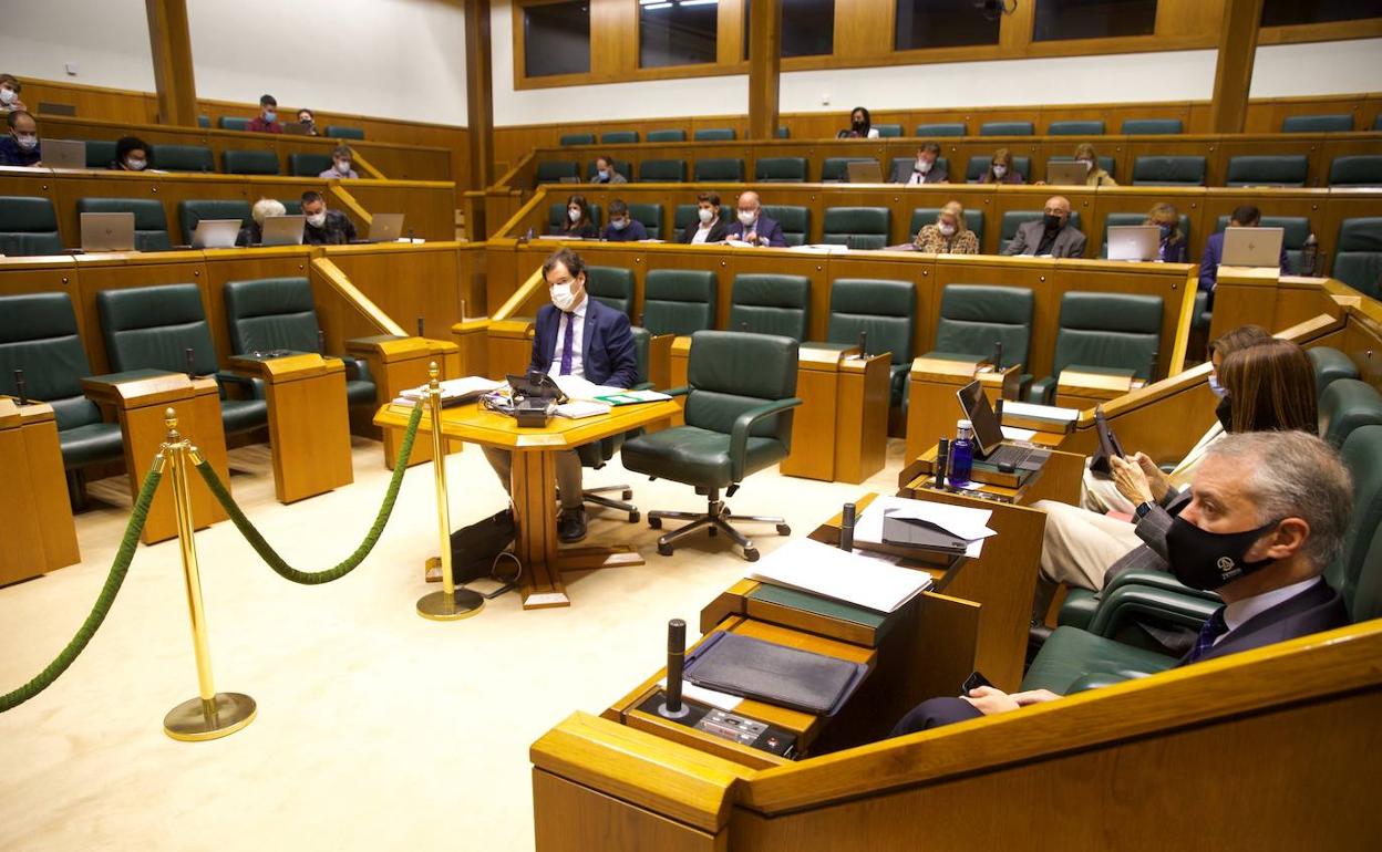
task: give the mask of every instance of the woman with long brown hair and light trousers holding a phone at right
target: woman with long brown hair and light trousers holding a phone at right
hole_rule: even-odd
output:
[[[1216,354],[1227,349],[1218,367],[1219,381],[1211,384],[1216,395],[1222,394],[1215,414],[1223,432],[1313,434],[1318,428],[1318,416],[1310,359],[1291,341],[1263,340],[1259,334],[1260,329],[1248,326],[1216,341]],[[1182,467],[1197,471],[1213,446],[1226,438],[1211,429],[1182,461]],[[1046,512],[1041,552],[1043,583],[1036,591],[1038,601],[1049,601],[1056,583],[1099,591],[1110,573],[1133,568],[1115,568],[1130,555],[1136,556],[1137,568],[1162,568],[1159,554],[1165,551],[1159,534],[1190,500],[1179,486],[1186,479],[1184,472],[1168,475],[1146,453],[1126,460],[1113,458],[1110,464],[1114,487],[1122,500],[1114,500],[1107,487],[1096,487],[1086,492],[1086,505],[1129,510],[1125,514],[1133,515],[1133,522],[1052,500],[1036,503],[1036,508]],[[1151,552],[1139,547],[1144,541]],[[1041,609],[1041,605],[1035,608]]]

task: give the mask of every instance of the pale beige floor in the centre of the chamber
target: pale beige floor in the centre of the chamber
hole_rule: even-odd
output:
[[[279,505],[267,449],[234,450],[232,487],[292,563],[325,568],[357,545],[388,482],[377,443],[357,439],[354,456],[351,486]],[[886,469],[862,486],[766,471],[730,503],[804,534],[842,501],[893,490],[901,457],[891,442]],[[448,458],[448,481],[457,526],[503,505],[474,447]],[[586,482],[630,483],[644,511],[703,507],[618,461]],[[80,565],[0,588],[0,692],[41,670],[86,617],[129,516],[124,487],[94,483]],[[141,547],[87,650],[0,715],[0,849],[532,849],[528,746],[658,668],[666,620],[695,632],[701,606],[746,563],[723,537],[658,556],[647,523],[605,515],[591,540],[632,541],[645,566],[568,576],[568,609],[524,612],[509,594],[474,619],[433,623],[413,603],[435,588],[420,580],[435,529],[427,464],[408,472],[376,551],[332,584],[282,580],[228,522],[198,533],[216,685],[252,695],[258,718],[196,744],[162,732],[163,714],[196,695],[178,548]],[[784,540],[759,543],[768,552]]]

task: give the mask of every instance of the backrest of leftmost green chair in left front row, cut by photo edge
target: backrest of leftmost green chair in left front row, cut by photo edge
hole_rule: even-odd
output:
[[[0,296],[0,394],[18,395],[15,370],[23,370],[29,399],[53,406],[58,429],[101,423],[101,410],[82,395],[91,366],[66,293]]]

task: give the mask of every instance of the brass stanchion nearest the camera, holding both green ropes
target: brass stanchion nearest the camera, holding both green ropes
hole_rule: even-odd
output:
[[[199,461],[196,447],[178,435],[177,414],[164,412],[167,439],[153,464],[173,472],[173,504],[177,510],[177,541],[182,552],[182,579],[187,581],[187,606],[192,613],[192,650],[196,655],[198,697],[182,701],[163,717],[163,732],[174,740],[200,742],[229,736],[254,721],[254,699],[238,692],[216,692],[211,685],[211,652],[206,641],[206,613],[202,610],[202,576],[196,566],[196,541],[192,539],[192,492],[187,479],[187,460]]]

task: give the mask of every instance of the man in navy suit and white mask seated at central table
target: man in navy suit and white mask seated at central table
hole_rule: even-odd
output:
[[[538,311],[528,371],[632,388],[638,380],[638,362],[629,318],[586,294],[586,265],[580,255],[561,249],[542,265],[542,275],[551,304]],[[509,450],[486,446],[485,458],[511,492]],[[580,457],[575,450],[557,453],[557,489],[561,492],[557,539],[580,541],[586,537],[586,510],[580,496]]]

